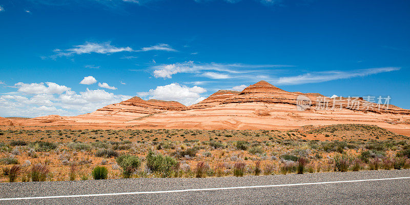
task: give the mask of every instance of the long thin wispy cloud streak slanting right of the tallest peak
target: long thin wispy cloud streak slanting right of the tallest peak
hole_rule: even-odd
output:
[[[272,80],[275,81],[277,85],[297,85],[306,83],[320,83],[324,81],[346,79],[352,77],[363,77],[367,75],[391,72],[400,70],[398,67],[385,67],[385,68],[370,68],[352,71],[324,71],[324,72],[314,72],[306,73],[298,76],[280,77],[279,79]]]

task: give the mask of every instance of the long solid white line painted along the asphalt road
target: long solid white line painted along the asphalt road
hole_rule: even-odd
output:
[[[284,184],[284,185],[261,185],[261,186],[247,186],[247,187],[224,187],[224,188],[185,189],[185,190],[150,191],[150,192],[123,192],[123,193],[108,193],[108,194],[84,194],[84,195],[66,195],[66,196],[37,196],[37,197],[21,197],[21,198],[1,198],[0,201],[24,200],[24,199],[73,198],[73,197],[91,197],[91,196],[117,196],[117,195],[133,195],[133,194],[161,194],[161,193],[215,191],[215,190],[230,190],[230,189],[254,189],[254,188],[269,188],[269,187],[291,187],[291,186],[304,186],[304,185],[323,185],[323,184],[326,184],[326,183],[351,183],[351,182],[361,182],[361,181],[381,181],[381,180],[409,179],[409,178],[410,177],[396,177],[396,178],[361,179],[361,180],[349,180],[349,181],[324,181],[324,182],[311,182],[311,183],[289,183],[289,184]]]

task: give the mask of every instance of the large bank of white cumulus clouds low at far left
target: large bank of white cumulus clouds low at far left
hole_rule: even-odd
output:
[[[74,116],[132,97],[115,95],[99,89],[87,89],[77,94],[66,86],[54,83],[46,83],[46,85],[44,83],[16,84],[17,92],[0,95],[0,116],[37,117],[50,114]]]

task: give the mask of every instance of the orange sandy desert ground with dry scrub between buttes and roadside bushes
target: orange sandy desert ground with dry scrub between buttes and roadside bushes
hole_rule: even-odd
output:
[[[68,159],[70,163],[76,163],[76,179],[80,180],[82,175],[88,176],[89,179],[91,170],[101,165],[101,161],[107,160],[106,167],[109,169],[109,178],[120,178],[121,171],[116,165],[115,158],[96,157],[95,153],[100,148],[95,147],[92,143],[107,144],[109,149],[114,149],[109,142],[118,141],[126,142],[123,148],[115,148],[119,154],[133,154],[144,158],[149,150],[156,150],[159,153],[172,155],[177,150],[183,150],[190,147],[198,147],[198,154],[191,158],[179,158],[179,161],[186,163],[194,170],[198,161],[207,161],[212,169],[221,168],[228,175],[232,174],[231,166],[235,163],[235,159],[243,160],[247,163],[248,174],[254,169],[255,161],[260,160],[262,168],[267,165],[273,165],[274,173],[280,173],[279,166],[281,162],[279,156],[286,153],[308,152],[306,157],[312,158],[310,166],[314,167],[315,171],[330,171],[331,165],[327,163],[326,157],[332,157],[335,152],[324,152],[320,149],[309,148],[311,140],[313,142],[325,141],[326,143],[334,140],[352,142],[357,145],[357,149],[346,149],[345,153],[350,155],[358,155],[363,151],[363,145],[366,143],[386,142],[408,145],[409,137],[390,132],[386,129],[377,126],[366,125],[334,125],[313,127],[304,126],[295,130],[279,131],[279,130],[49,130],[50,127],[24,127],[18,129],[13,126],[2,126],[0,131],[0,143],[7,147],[12,140],[24,140],[26,146],[8,146],[3,147],[0,152],[0,158],[7,157],[13,149],[19,150],[19,155],[15,155],[20,165],[30,169],[26,160],[29,160],[31,165],[34,163],[43,163],[49,166],[51,175],[48,180],[68,180],[69,165],[63,164],[63,159]],[[209,148],[209,140],[216,141],[225,148]],[[37,140],[56,142],[57,148],[51,151],[37,151],[38,157],[29,157],[28,151],[35,145],[30,145]],[[249,146],[256,145],[260,147],[264,154],[252,154],[248,151],[237,150],[235,147],[237,140],[244,140],[249,143]],[[73,142],[87,142],[90,149],[74,150],[69,144]],[[285,143],[284,143],[285,142]],[[169,148],[158,148],[158,143]],[[315,142],[316,143],[316,142]],[[386,155],[394,157],[395,153],[400,150],[400,145],[396,145],[395,149],[385,151]],[[7,150],[7,151],[6,151]],[[296,150],[296,151],[294,151]],[[309,151],[306,151],[309,150]],[[206,154],[209,152],[209,154]],[[321,158],[315,158],[320,155]],[[272,156],[277,156],[273,159]],[[322,158],[323,157],[323,158]],[[224,163],[227,163],[224,164]],[[0,167],[11,167],[12,165],[2,165]],[[144,166],[143,166],[144,167]],[[141,168],[142,169],[142,168]],[[143,172],[143,170],[140,170]],[[0,173],[1,174],[1,173]],[[138,175],[140,177],[155,176],[155,175]],[[192,173],[184,173],[185,177],[192,177]],[[134,176],[135,177],[135,176]],[[0,175],[0,181],[6,182],[6,176]],[[20,180],[20,179],[18,179]]]

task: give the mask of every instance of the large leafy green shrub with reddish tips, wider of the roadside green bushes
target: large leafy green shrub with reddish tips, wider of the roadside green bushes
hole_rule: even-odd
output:
[[[178,161],[170,156],[155,154],[150,151],[147,156],[147,167],[153,172],[159,172],[162,177],[170,177],[178,167]]]

